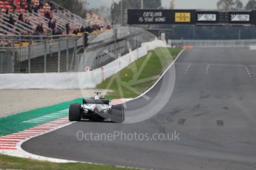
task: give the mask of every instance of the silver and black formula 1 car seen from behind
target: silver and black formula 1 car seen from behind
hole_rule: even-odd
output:
[[[74,103],[69,108],[70,121],[103,121],[111,120],[122,123],[125,120],[125,109],[122,105],[109,105],[109,101],[96,92],[94,98],[83,99],[81,103]]]

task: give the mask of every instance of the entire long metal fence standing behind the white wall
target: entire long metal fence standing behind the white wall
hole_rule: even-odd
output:
[[[0,35],[0,74],[77,72],[80,61],[85,59],[91,63],[91,69],[96,69],[114,61],[118,55],[125,55],[130,49],[137,49],[143,39],[151,41],[142,30],[128,27],[88,37]]]

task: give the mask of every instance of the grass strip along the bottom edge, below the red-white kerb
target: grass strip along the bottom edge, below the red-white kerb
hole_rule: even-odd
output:
[[[9,157],[0,154],[0,169],[28,169],[28,170],[38,170],[38,169],[47,169],[47,170],[58,170],[58,169],[76,169],[76,170],[119,170],[121,168],[116,168],[114,166],[94,166],[88,165],[85,163],[49,163],[38,160],[23,159],[17,157]]]

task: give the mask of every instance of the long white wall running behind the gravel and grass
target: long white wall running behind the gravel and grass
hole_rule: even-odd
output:
[[[95,88],[106,78],[127,67],[149,50],[166,47],[163,41],[155,40],[142,44],[137,50],[122,56],[105,67],[91,72],[36,73],[0,75],[0,89],[79,89]]]

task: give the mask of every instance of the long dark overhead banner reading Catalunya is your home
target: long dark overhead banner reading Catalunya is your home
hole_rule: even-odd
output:
[[[128,10],[128,24],[255,25],[256,11]]]

